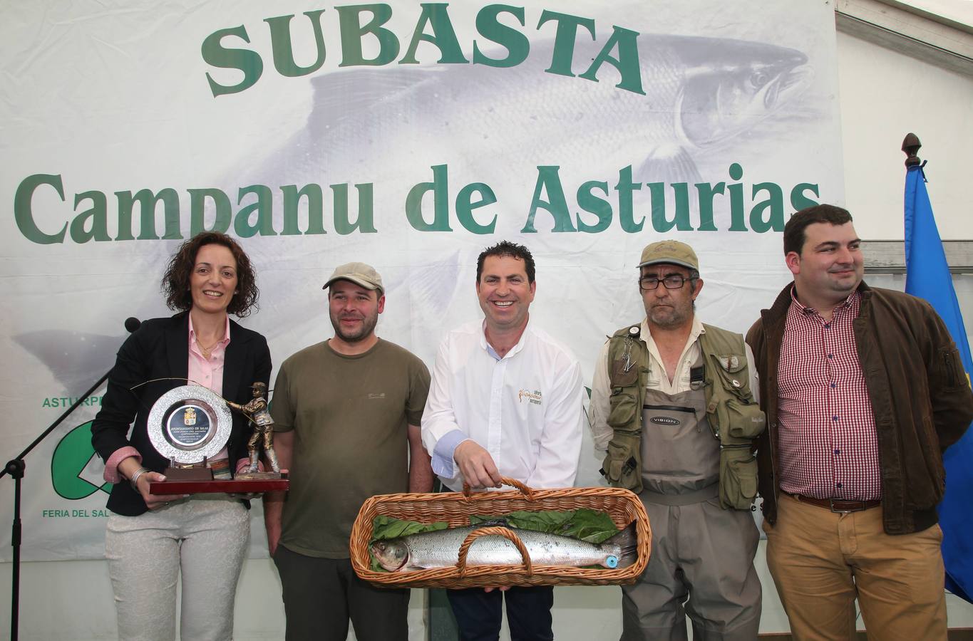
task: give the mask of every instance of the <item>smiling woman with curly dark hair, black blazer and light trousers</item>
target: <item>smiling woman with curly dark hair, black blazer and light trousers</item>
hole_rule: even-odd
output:
[[[181,571],[181,637],[231,639],[248,504],[224,493],[151,494],[151,482],[165,481],[162,471],[171,457],[153,445],[149,415],[163,394],[187,379],[237,404],[251,399],[255,382],[267,385],[267,340],[229,316],[248,315],[259,291],[246,254],[216,231],[201,232],[179,247],[162,277],[162,291],[177,313],[145,321],[126,339],[91,425],[105,480],[114,483],[105,555],[119,638],[175,637]],[[195,425],[199,413],[187,407],[179,420]],[[206,461],[213,470],[229,472],[247,463],[251,428],[243,414],[234,413],[232,423],[226,446]]]

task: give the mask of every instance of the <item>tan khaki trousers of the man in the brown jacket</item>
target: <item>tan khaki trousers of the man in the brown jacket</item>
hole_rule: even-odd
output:
[[[946,639],[939,525],[889,536],[881,506],[837,514],[781,492],[764,531],[794,639],[853,639],[856,597],[869,639]]]

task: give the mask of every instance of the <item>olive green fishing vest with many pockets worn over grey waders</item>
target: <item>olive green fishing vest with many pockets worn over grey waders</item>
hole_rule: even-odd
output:
[[[764,431],[766,417],[750,390],[743,337],[711,325],[703,328],[703,372],[694,368],[691,385],[703,387],[706,419],[719,441],[720,505],[749,510],[757,495],[757,460],[751,449],[753,439]],[[636,493],[642,491],[642,405],[652,367],[640,333],[640,325],[631,325],[608,340],[608,425],[613,435],[601,468],[612,486]]]

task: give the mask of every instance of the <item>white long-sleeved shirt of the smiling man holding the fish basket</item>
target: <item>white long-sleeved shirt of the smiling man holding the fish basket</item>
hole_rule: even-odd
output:
[[[570,487],[578,473],[584,416],[581,366],[573,354],[528,320],[500,358],[484,322],[467,323],[439,346],[422,413],[422,445],[450,489],[462,475],[452,457],[472,439],[500,475],[530,487]]]

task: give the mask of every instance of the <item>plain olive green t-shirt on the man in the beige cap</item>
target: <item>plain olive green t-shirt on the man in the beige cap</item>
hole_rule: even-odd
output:
[[[284,547],[348,558],[362,503],[409,490],[408,426],[419,424],[428,392],[422,361],[380,338],[356,356],[324,341],[284,361],[270,409],[274,431],[294,430]]]

